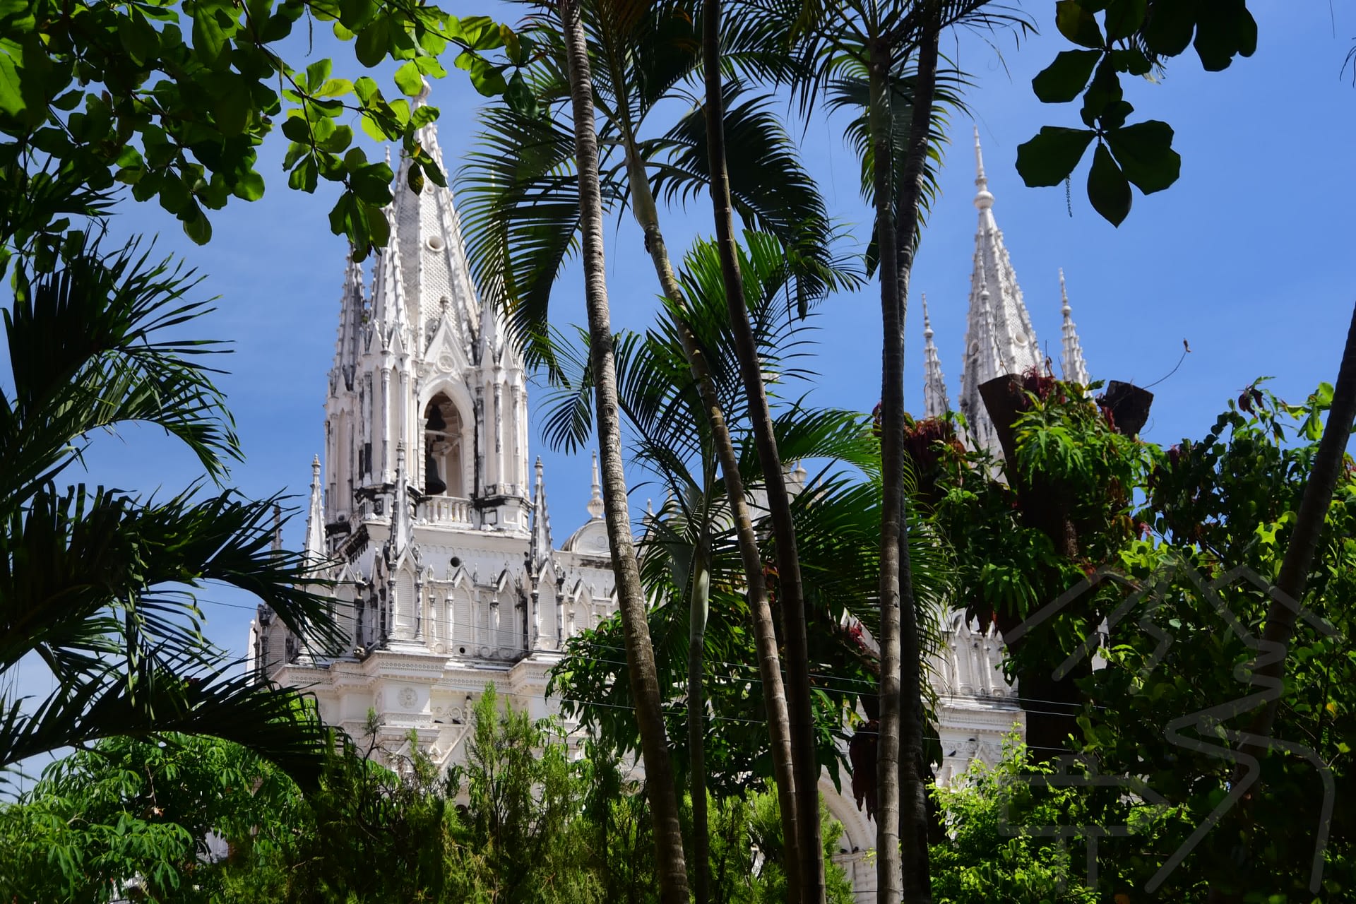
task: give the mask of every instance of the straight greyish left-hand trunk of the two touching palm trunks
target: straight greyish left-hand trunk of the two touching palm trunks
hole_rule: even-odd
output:
[[[890,111],[891,52],[884,38],[868,45],[871,88],[872,198],[876,247],[880,249],[880,316],[884,347],[880,385],[880,736],[876,741],[876,900],[896,904],[902,892],[899,867],[899,557],[907,545],[903,522],[904,445],[904,325],[899,316],[899,268],[895,243],[894,127]]]

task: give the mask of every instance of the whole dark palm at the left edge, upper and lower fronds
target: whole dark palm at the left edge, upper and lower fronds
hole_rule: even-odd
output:
[[[323,726],[290,691],[235,674],[205,641],[193,591],[237,587],[316,646],[338,640],[313,565],[273,549],[275,499],[199,485],[142,499],[84,484],[89,435],[153,424],[184,443],[210,480],[240,458],[225,400],[199,355],[172,337],[207,312],[197,285],[136,243],[102,253],[85,234],[34,272],[18,259],[4,314],[11,392],[0,389],[0,672],[41,660],[57,689],[0,698],[0,767],[110,736],[157,732],[233,740],[302,781],[323,766]],[[11,686],[12,689],[12,686]]]

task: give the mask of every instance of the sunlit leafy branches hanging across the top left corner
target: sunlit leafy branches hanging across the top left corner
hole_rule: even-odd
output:
[[[332,27],[353,42],[358,64],[396,61],[396,88],[408,96],[439,79],[452,47],[484,95],[511,91],[506,73],[532,56],[532,42],[484,16],[458,19],[435,5],[376,0],[151,0],[58,3],[20,0],[0,9],[0,207],[52,186],[71,202],[31,206],[20,222],[0,224],[0,263],[14,251],[50,266],[71,233],[61,213],[96,213],[117,184],[137,201],[157,199],[202,244],[207,210],[231,197],[255,201],[264,180],[258,146],[274,126],[289,140],[287,184],[315,191],[320,179],[342,191],[330,214],[336,234],[362,259],[386,243],[381,207],[391,201],[391,167],[353,148],[350,114],[378,141],[399,141],[412,157],[411,187],[445,176],[418,130],[434,107],[386,99],[377,83],[331,77],[330,60],[294,69],[278,46],[298,23]],[[521,76],[514,76],[521,84]]]

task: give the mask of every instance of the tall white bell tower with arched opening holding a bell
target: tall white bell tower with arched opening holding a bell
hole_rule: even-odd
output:
[[[433,126],[419,142],[441,167]],[[426,523],[526,537],[522,358],[476,297],[452,192],[411,191],[411,165],[400,161],[370,287],[348,263],[325,400],[325,512],[332,529],[384,514],[374,510],[403,484]]]

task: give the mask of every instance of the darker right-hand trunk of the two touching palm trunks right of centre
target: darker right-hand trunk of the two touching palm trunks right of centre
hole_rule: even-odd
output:
[[[928,138],[932,129],[933,102],[937,91],[937,52],[940,31],[936,18],[923,23],[918,43],[918,66],[914,79],[914,104],[909,122],[909,146],[900,175],[899,195],[895,201],[895,244],[898,247],[895,291],[898,293],[899,371],[881,379],[895,382],[900,394],[898,423],[885,423],[881,430],[891,435],[903,457],[903,339],[909,314],[909,283],[918,249],[918,209],[923,194],[923,168],[928,164]],[[881,262],[884,266],[884,262]],[[891,335],[894,339],[895,335]],[[903,464],[903,462],[900,462]],[[903,470],[896,472],[903,477]],[[923,657],[919,644],[918,607],[914,598],[913,564],[909,557],[909,497],[899,489],[899,842],[903,869],[903,900],[906,904],[932,901],[932,870],[928,855],[928,767],[923,762]]]

